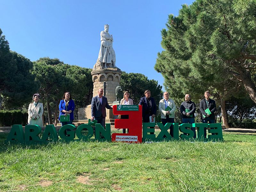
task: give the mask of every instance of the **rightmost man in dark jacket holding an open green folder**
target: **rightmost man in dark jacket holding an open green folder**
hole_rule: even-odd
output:
[[[204,92],[205,99],[200,101],[200,112],[202,113],[202,123],[215,123],[215,114],[216,111],[216,103],[215,100],[210,99],[211,93],[209,91]],[[207,114],[205,112],[205,109],[209,108],[211,111],[211,114]],[[204,117],[204,116],[205,117]],[[214,129],[214,128],[212,128]],[[212,133],[212,135],[215,135],[215,133]],[[204,128],[204,138],[206,138],[206,128]]]

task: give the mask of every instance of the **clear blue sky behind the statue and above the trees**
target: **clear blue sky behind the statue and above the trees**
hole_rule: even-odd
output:
[[[100,31],[109,24],[116,66],[142,73],[163,85],[154,69],[161,52],[161,29],[168,14],[178,15],[180,1],[1,1],[0,28],[10,49],[31,61],[59,58],[64,63],[92,68],[100,50]],[[164,87],[163,87],[164,90]]]

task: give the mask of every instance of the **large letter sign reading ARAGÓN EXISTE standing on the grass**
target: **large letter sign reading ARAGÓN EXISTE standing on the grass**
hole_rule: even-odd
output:
[[[118,121],[127,121],[127,119],[117,119]],[[133,123],[137,123],[134,121]],[[93,127],[89,124],[93,124]],[[50,142],[62,140],[69,142],[72,140],[83,141],[123,141],[123,142],[138,142],[139,136],[134,133],[112,133],[110,130],[110,123],[106,124],[106,128],[96,121],[89,124],[81,124],[77,128],[72,124],[64,125],[56,132],[54,125],[46,125],[45,130],[40,138],[38,134],[41,133],[41,127],[38,125],[26,125],[25,133],[23,132],[22,125],[12,125],[12,129],[8,134],[6,142]],[[160,129],[158,135],[155,134],[156,124]],[[169,133],[170,126],[172,125],[172,135]],[[95,128],[94,128],[95,126]],[[141,126],[141,124],[140,124]],[[192,127],[197,129],[197,138],[193,138],[194,132],[190,130]],[[76,128],[76,129],[75,129]],[[208,129],[208,138],[204,138],[204,129]],[[129,130],[134,127],[128,127]],[[173,140],[190,140],[190,141],[223,141],[222,128],[220,123],[207,124],[207,123],[143,123],[142,129],[137,129],[142,132],[139,142],[159,142],[159,141],[173,141]],[[86,131],[86,132],[84,132]],[[151,133],[151,134],[148,134]],[[153,134],[152,134],[153,133]],[[209,134],[210,133],[210,134]],[[95,139],[91,139],[94,134]],[[78,139],[75,139],[77,136]],[[59,138],[60,137],[60,138]],[[112,139],[111,139],[112,138]]]

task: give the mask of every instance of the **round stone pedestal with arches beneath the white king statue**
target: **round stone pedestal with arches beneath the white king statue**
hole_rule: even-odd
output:
[[[120,84],[121,70],[119,68],[104,68],[91,72],[93,81],[93,96],[98,94],[100,88],[104,89],[106,82],[106,97],[109,103],[116,100],[116,87]]]

